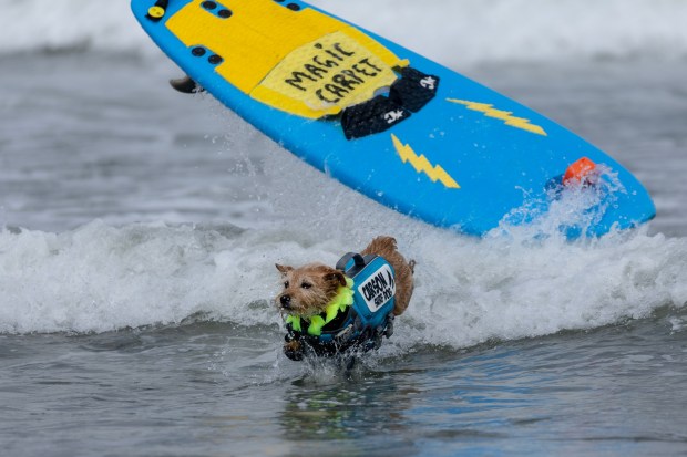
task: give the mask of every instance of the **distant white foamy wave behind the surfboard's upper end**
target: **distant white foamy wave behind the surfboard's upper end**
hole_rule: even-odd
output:
[[[687,55],[683,0],[314,0],[440,62]],[[0,0],[0,53],[156,53],[129,1]]]

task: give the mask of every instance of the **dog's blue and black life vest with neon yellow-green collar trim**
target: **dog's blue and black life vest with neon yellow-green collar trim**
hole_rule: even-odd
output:
[[[288,316],[286,341],[298,340],[304,352],[317,355],[379,349],[382,336],[393,333],[393,267],[379,256],[349,252],[336,268],[347,277],[347,287],[339,289],[322,314],[309,319]],[[294,360],[304,356],[286,355]]]

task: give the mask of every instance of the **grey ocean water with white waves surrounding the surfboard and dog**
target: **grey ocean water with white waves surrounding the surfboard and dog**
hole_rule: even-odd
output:
[[[2,455],[687,454],[687,3],[314,2],[646,184],[656,220],[576,242],[378,206],[174,93],[100,3],[0,0]],[[379,233],[418,261],[393,337],[350,373],[287,360],[274,264]]]

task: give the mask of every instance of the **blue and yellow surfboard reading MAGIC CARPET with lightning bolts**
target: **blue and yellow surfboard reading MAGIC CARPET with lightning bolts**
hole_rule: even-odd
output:
[[[588,160],[618,186],[589,209],[598,211],[591,224],[562,227],[567,236],[602,236],[655,216],[626,168],[566,128],[303,1],[131,6],[153,41],[229,110],[400,212],[475,236],[504,220],[531,224],[565,193],[566,173]]]

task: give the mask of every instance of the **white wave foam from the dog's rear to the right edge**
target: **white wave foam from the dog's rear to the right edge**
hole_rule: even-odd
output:
[[[595,241],[428,238],[414,300],[393,344],[466,347],[588,330],[687,304],[687,240],[615,233]],[[449,246],[449,248],[447,248]],[[443,252],[443,255],[438,255]]]

